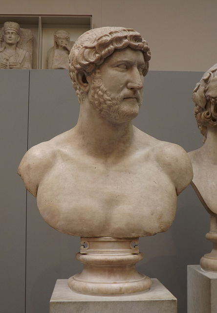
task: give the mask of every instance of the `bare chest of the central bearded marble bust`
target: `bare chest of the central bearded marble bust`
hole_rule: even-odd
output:
[[[54,228],[93,237],[165,231],[176,209],[173,183],[156,164],[139,159],[57,163],[40,183],[37,201],[45,221],[55,212]]]

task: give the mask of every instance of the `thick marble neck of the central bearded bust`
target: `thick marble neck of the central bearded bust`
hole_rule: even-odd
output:
[[[129,150],[133,140],[131,121],[110,122],[84,101],[74,128],[82,147],[100,158],[119,158]]]

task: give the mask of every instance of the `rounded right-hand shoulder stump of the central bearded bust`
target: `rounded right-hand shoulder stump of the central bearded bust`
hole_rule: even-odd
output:
[[[170,142],[160,141],[156,150],[157,163],[173,181],[179,195],[193,178],[190,157],[182,147]]]

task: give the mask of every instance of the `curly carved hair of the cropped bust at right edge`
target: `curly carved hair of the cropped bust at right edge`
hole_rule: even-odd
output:
[[[196,84],[192,99],[195,102],[197,126],[204,143],[207,127],[217,125],[217,64],[208,69]]]

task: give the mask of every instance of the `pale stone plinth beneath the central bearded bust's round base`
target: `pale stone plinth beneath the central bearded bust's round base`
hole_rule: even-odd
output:
[[[177,313],[177,299],[157,279],[146,292],[123,295],[86,295],[69,289],[66,279],[56,282],[50,313]]]

